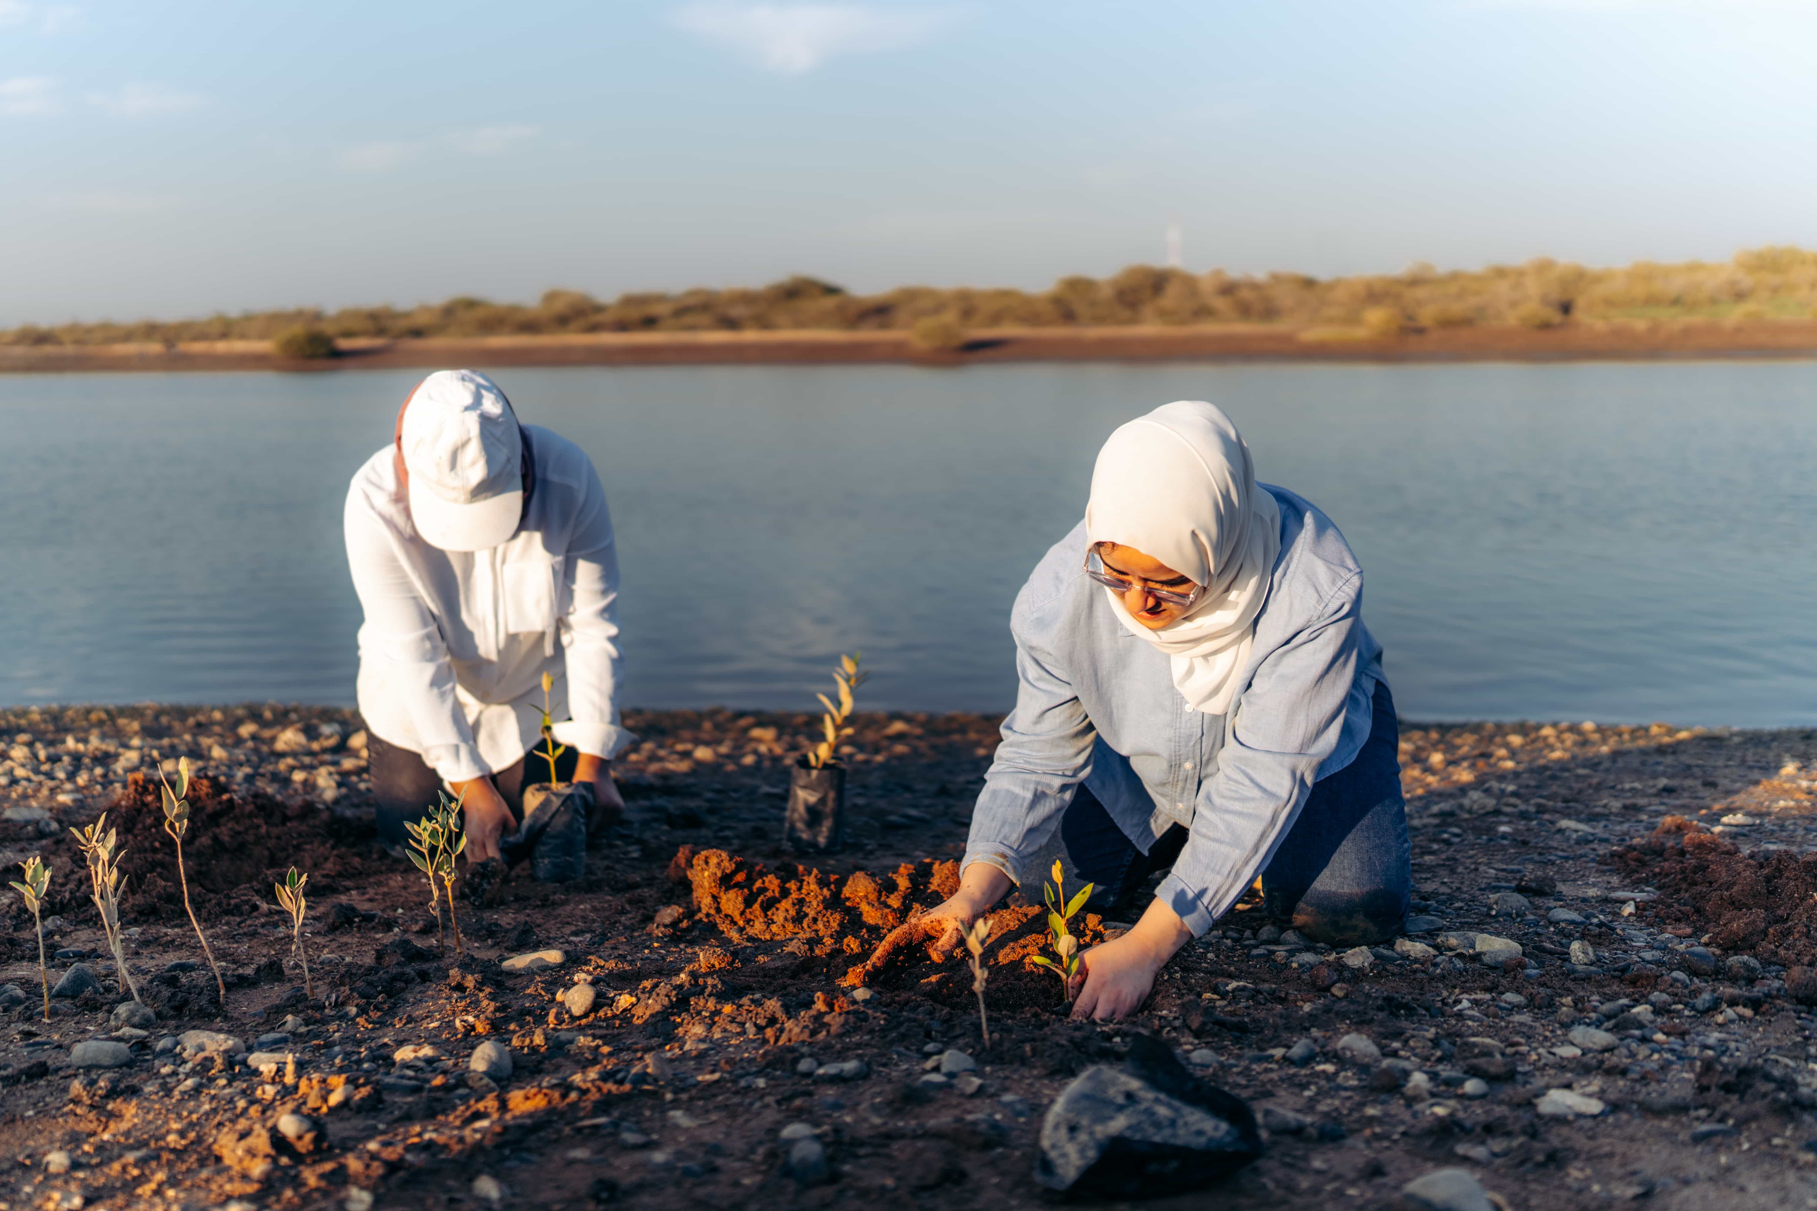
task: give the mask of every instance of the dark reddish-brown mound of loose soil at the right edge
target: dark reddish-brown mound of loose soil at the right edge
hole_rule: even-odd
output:
[[[1701,824],[1668,815],[1608,862],[1659,888],[1648,906],[1653,921],[1690,926],[1712,946],[1752,951],[1761,962],[1817,962],[1817,857],[1743,853]]]

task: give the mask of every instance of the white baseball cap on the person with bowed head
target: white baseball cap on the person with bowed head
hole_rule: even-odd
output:
[[[436,370],[411,392],[398,428],[411,519],[442,550],[487,550],[518,532],[523,436],[511,401],[472,370]]]

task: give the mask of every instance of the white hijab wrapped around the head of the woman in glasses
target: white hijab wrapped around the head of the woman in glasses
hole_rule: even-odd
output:
[[[1281,508],[1256,487],[1248,445],[1217,407],[1168,403],[1123,425],[1097,452],[1088,543],[1134,546],[1205,585],[1181,619],[1148,630],[1105,590],[1117,621],[1172,657],[1187,704],[1221,715],[1248,663],[1256,615],[1281,554]]]

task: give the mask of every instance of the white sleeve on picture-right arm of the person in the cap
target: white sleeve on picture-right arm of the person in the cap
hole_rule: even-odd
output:
[[[632,739],[618,708],[618,546],[605,488],[591,463],[563,576],[569,608],[560,628],[569,719],[556,724],[556,739],[594,757],[616,757]]]

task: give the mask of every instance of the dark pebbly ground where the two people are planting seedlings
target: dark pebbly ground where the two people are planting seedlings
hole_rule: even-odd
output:
[[[994,721],[861,719],[852,844],[814,870],[778,848],[809,717],[629,723],[630,817],[587,877],[463,902],[456,957],[363,826],[356,717],[0,714],[0,861],[53,868],[65,993],[45,1022],[31,915],[0,899],[0,1211],[1036,1206],[1045,1108],[1137,1035],[1256,1108],[1232,1207],[1392,1207],[1446,1167],[1510,1207],[1817,1207],[1817,732],[1410,728],[1406,937],[1339,955],[1243,904],[1136,1020],[1076,1024],[1010,906],[987,1048],[958,960],[854,968],[956,875]],[[178,755],[225,1006],[145,781]],[[104,808],[144,1008],[116,1008],[62,832]],[[307,991],[271,891],[293,862]]]

